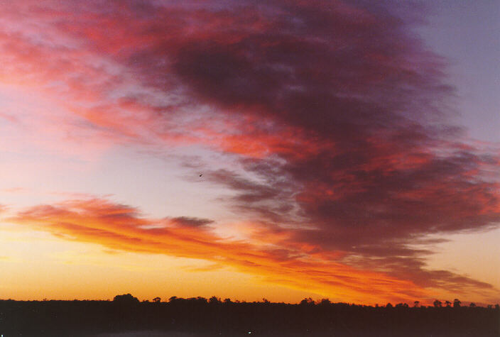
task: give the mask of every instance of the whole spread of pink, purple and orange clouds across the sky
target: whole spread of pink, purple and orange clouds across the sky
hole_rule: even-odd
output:
[[[78,121],[69,135],[195,144],[236,160],[204,177],[233,192],[224,201],[256,226],[246,233],[272,248],[224,243],[210,220],[153,221],[102,199],[36,206],[16,221],[113,249],[222,256],[257,274],[279,270],[270,280],[302,287],[310,277],[353,297],[369,282],[390,296],[491,290],[425,269],[428,235],[499,226],[500,161],[450,121],[446,62],[401,18],[418,14],[370,1],[75,4],[9,7],[2,79],[64,94]],[[389,275],[381,280],[393,289],[368,282],[364,268]]]

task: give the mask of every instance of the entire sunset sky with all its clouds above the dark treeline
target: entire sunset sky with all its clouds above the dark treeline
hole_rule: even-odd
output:
[[[0,299],[500,302],[498,1],[2,1]]]

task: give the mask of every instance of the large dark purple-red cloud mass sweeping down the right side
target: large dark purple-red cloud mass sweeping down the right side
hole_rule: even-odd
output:
[[[134,43],[91,45],[144,86],[175,93],[170,105],[128,98],[151,106],[157,123],[209,108],[202,126],[245,174],[206,179],[234,192],[226,201],[242,217],[286,231],[284,247],[342,251],[344,262],[426,287],[486,289],[425,270],[433,251],[412,246],[500,223],[498,152],[465,144],[452,123],[446,62],[408,25],[423,21],[418,10],[394,1],[112,2],[93,29],[106,36],[103,18],[129,23]]]

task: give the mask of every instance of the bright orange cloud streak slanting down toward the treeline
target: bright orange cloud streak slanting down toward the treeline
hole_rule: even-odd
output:
[[[408,302],[428,295],[411,281],[337,263],[335,252],[310,253],[312,249],[308,247],[280,246],[285,233],[269,236],[263,233],[266,229],[258,225],[251,228],[246,240],[234,240],[215,235],[207,228],[210,221],[197,219],[195,222],[205,225],[179,226],[179,219],[147,219],[134,207],[105,199],[34,206],[9,221],[66,240],[97,243],[112,250],[210,260],[216,266],[259,275],[267,282],[307,289],[343,301]]]

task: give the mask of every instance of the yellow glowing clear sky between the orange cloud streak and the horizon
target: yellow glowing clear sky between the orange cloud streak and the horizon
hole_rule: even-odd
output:
[[[246,301],[266,297],[293,303],[319,297],[264,284],[231,268],[196,271],[210,266],[204,260],[109,251],[100,245],[68,242],[40,232],[3,234],[0,299],[113,299],[116,294],[131,293],[141,300],[217,296]]]

